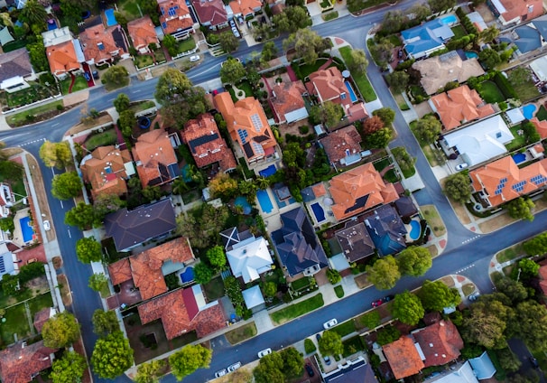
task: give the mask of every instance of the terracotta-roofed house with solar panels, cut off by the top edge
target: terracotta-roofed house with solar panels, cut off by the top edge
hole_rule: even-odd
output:
[[[157,2],[164,34],[171,34],[178,40],[194,33],[194,21],[184,0],[157,0]]]

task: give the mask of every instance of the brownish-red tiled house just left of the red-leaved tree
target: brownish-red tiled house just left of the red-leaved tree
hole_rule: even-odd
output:
[[[350,125],[330,132],[319,140],[329,162],[338,166],[349,166],[361,161],[361,135]]]

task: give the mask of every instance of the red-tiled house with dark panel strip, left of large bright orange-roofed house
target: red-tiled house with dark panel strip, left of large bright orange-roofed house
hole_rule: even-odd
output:
[[[182,141],[190,146],[190,152],[199,168],[218,163],[224,173],[236,169],[234,153],[218,131],[215,119],[205,113],[188,121],[181,130]]]

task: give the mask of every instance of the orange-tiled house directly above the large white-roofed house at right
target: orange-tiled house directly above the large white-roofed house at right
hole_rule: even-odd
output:
[[[467,85],[433,96],[429,103],[433,111],[439,115],[445,130],[496,113],[491,104],[485,103],[478,96],[477,90],[470,89]]]

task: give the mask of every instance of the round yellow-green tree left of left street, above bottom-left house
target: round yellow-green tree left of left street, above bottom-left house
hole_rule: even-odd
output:
[[[58,313],[43,323],[42,338],[44,346],[62,349],[79,338],[79,324],[71,313]]]

